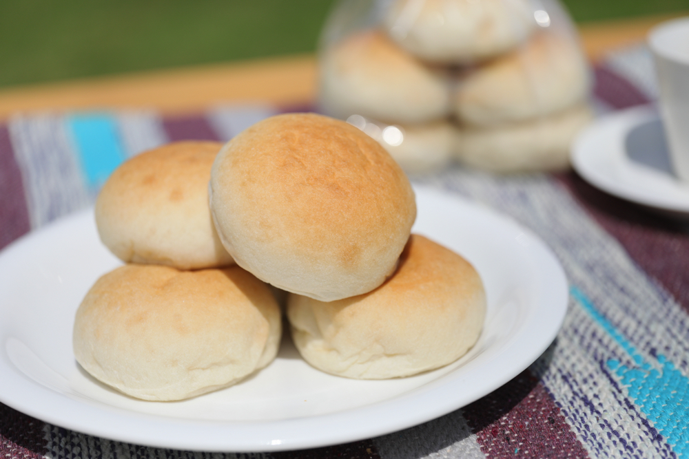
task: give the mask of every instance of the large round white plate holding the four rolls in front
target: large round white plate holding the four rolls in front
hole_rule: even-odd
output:
[[[0,401],[86,434],[205,451],[333,445],[467,405],[553,341],[566,311],[566,279],[551,251],[506,217],[430,189],[417,189],[417,202],[414,231],[464,255],[486,286],[484,331],[460,361],[410,378],[356,381],[309,367],[288,338],[274,363],[233,387],[174,403],[123,396],[85,374],[72,354],[76,308],[120,264],[86,212],[0,254]]]

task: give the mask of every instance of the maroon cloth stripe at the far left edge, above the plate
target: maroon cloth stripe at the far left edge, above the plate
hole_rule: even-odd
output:
[[[24,185],[6,126],[0,126],[0,248],[31,229]]]

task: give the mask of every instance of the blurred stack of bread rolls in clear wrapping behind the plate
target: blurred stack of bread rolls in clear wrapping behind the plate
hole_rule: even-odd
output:
[[[335,38],[319,58],[320,109],[367,132],[407,171],[453,160],[565,169],[570,141],[592,118],[590,77],[554,1],[372,2],[365,27],[324,34]],[[337,19],[346,3],[327,27],[347,28]]]

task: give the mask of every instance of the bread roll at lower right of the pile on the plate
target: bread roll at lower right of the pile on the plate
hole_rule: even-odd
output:
[[[486,314],[482,281],[465,259],[412,235],[390,279],[373,292],[323,303],[289,295],[292,338],[314,367],[349,378],[410,376],[460,358]]]

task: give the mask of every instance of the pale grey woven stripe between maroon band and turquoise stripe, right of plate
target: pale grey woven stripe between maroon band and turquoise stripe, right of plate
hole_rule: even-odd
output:
[[[578,286],[644,359],[663,349],[689,373],[689,317],[554,179],[493,177],[455,170],[438,184],[511,215],[544,239]]]

